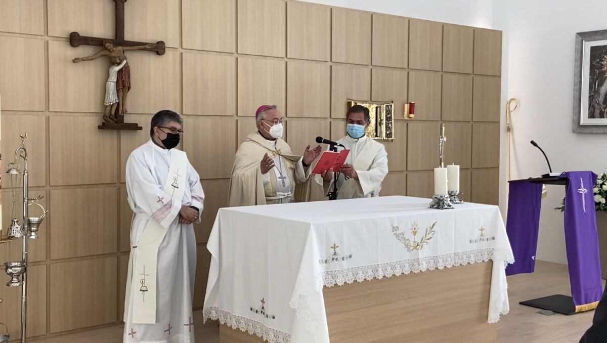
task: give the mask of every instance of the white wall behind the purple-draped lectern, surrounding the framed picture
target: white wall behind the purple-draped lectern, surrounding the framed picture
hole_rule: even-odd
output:
[[[607,2],[496,0],[495,9],[509,33],[507,94],[520,101],[512,114],[512,178],[547,171],[531,140],[546,151],[553,171],[607,172],[607,135],[571,132],[575,33],[607,29]],[[563,214],[552,209],[564,194],[562,186],[548,186],[537,259],[567,262]]]

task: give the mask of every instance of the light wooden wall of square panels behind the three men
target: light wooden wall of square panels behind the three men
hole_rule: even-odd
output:
[[[432,195],[445,123],[446,163],[461,165],[462,199],[497,203],[501,32],[294,0],[129,0],[125,10],[126,39],[167,45],[163,56],[126,53],[126,121],[143,127],[137,132],[97,129],[109,63],[73,64],[99,47],[73,48],[67,39],[72,31],[114,36],[114,2],[0,1],[0,46],[11,47],[0,49],[2,168],[18,134],[28,132],[31,192],[45,195],[50,209],[40,238],[30,241],[29,336],[121,321],[132,216],[124,168],[161,109],[184,115],[181,148],[207,195],[195,226],[197,308],[232,156],[255,130],[260,104],[279,106],[288,117],[285,138],[302,153],[317,135],[345,135],[348,98],[395,101],[381,194]],[[416,114],[405,121],[409,101]],[[3,181],[6,228],[12,213]],[[319,189],[313,198],[322,199]],[[0,245],[1,262],[18,259],[20,244]],[[0,287],[3,319],[16,311],[19,294]]]

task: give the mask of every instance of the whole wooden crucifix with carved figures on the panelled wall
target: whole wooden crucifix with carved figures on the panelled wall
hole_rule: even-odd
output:
[[[158,55],[164,55],[164,42],[148,44],[143,42],[124,40],[124,2],[127,0],[112,0],[115,2],[116,10],[116,39],[97,38],[81,36],[78,32],[70,33],[70,45],[78,47],[103,46],[104,50],[92,56],[72,59],[73,63],[91,61],[101,56],[110,59],[109,76],[106,81],[106,93],[103,100],[106,106],[103,114],[103,123],[99,129],[112,130],[141,130],[136,123],[124,123],[124,114],[127,113],[126,99],[131,89],[131,69],[124,52],[126,50],[148,50]]]

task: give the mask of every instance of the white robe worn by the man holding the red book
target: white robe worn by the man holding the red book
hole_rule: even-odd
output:
[[[384,144],[381,144],[367,136],[352,138],[347,135],[337,141],[350,150],[345,160],[346,165],[352,165],[358,180],[348,178],[339,174],[337,179],[337,199],[353,199],[366,197],[379,197],[381,184],[385,175],[388,174],[388,154],[385,152]],[[337,147],[337,151],[344,148]],[[333,190],[333,181],[324,182],[320,175],[315,175],[314,180],[323,187],[324,194]]]

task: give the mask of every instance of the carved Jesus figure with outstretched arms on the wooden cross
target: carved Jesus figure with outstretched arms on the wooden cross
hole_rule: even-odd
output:
[[[126,60],[126,56],[124,56],[124,52],[126,50],[143,50],[143,49],[152,49],[155,44],[146,44],[144,46],[115,46],[110,41],[104,41],[103,47],[104,50],[101,50],[95,55],[86,56],[86,57],[77,57],[72,59],[73,63],[78,63],[82,61],[92,61],[93,59],[97,59],[101,56],[107,56],[112,61],[113,65],[121,64]],[[118,63],[115,63],[116,58],[118,58]],[[118,115],[123,115],[127,113],[126,111],[126,95],[131,90],[131,68],[129,67],[129,63],[125,62],[124,66],[118,70],[118,78],[116,82],[116,89],[118,91]],[[112,113],[113,115],[113,113]]]

